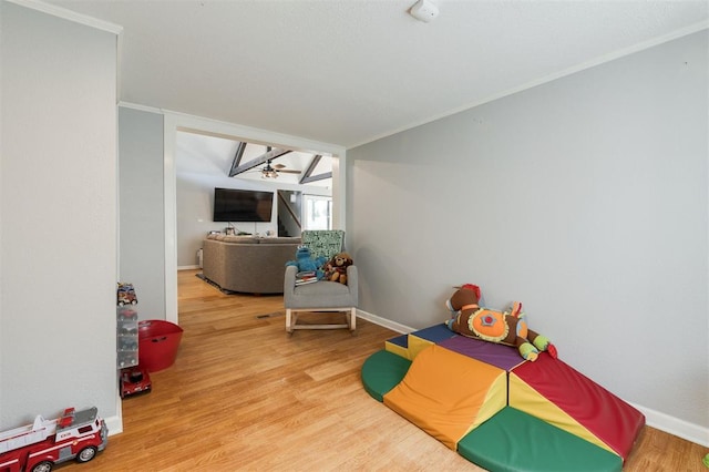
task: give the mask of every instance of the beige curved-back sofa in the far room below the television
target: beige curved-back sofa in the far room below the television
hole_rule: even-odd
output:
[[[298,237],[209,235],[203,242],[203,275],[223,290],[282,294],[286,263],[296,259]]]

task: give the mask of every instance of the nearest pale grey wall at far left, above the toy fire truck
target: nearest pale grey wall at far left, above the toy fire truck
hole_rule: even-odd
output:
[[[0,9],[0,427],[115,417],[116,35]]]

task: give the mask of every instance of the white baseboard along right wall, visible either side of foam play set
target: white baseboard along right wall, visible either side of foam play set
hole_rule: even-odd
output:
[[[386,318],[381,318],[377,315],[372,315],[370,312],[367,312],[360,309],[357,310],[357,316],[368,321],[371,321],[374,325],[389,328],[392,331],[397,331],[401,334],[415,331],[414,328],[401,325],[395,321],[391,321]],[[383,349],[383,346],[382,346],[382,349]],[[645,414],[645,419],[648,427],[653,427],[668,434],[676,435],[678,438],[685,439],[690,442],[695,442],[703,447],[709,447],[709,428],[703,428],[703,427],[700,427],[699,424],[693,424],[688,421],[680,420],[675,417],[670,417],[669,414],[661,413],[659,411],[655,411],[653,409],[645,408],[639,404],[634,404],[634,403],[630,403],[630,404],[637,408],[638,410],[640,410],[643,414]]]

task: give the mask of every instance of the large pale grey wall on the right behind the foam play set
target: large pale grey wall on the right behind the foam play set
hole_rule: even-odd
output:
[[[707,57],[702,31],[349,150],[360,308],[423,328],[453,285],[521,300],[562,359],[709,443]]]

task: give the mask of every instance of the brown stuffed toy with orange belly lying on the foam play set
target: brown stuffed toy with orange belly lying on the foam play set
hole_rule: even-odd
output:
[[[556,359],[556,347],[549,340],[527,327],[522,304],[515,301],[505,311],[496,311],[477,305],[481,299],[480,287],[463,285],[446,301],[454,312],[446,326],[459,335],[484,341],[516,347],[520,355],[530,361],[536,360],[540,351],[547,351]]]

